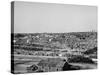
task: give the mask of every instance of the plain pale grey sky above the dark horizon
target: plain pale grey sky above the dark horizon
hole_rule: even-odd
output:
[[[14,2],[14,33],[97,31],[97,7]]]

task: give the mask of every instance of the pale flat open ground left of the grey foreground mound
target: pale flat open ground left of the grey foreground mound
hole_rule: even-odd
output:
[[[33,64],[37,65],[41,60],[46,60],[48,58],[65,59],[64,57],[57,56],[14,55],[14,73],[27,73],[27,67]]]

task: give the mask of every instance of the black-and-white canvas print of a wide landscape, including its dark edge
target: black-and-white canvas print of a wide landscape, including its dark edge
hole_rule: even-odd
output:
[[[98,67],[97,6],[11,2],[11,73]]]

